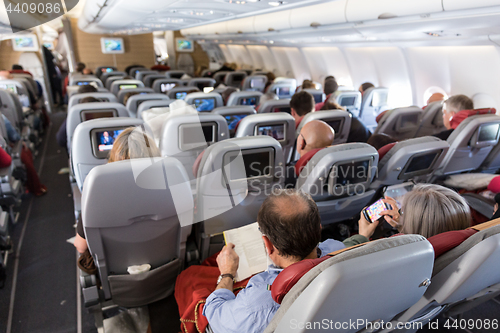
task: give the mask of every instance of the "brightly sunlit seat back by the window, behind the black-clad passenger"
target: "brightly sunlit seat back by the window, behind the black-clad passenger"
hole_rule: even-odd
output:
[[[370,131],[377,127],[377,116],[388,109],[387,98],[389,89],[387,88],[369,88],[363,94],[361,101],[361,111],[359,119]]]

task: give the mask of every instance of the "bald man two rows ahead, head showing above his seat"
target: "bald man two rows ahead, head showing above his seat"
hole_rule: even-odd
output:
[[[300,158],[314,149],[326,148],[333,144],[335,131],[333,128],[321,120],[313,120],[305,124],[297,137],[297,152]],[[286,169],[285,187],[293,188],[297,182],[295,164],[298,161],[290,163]]]

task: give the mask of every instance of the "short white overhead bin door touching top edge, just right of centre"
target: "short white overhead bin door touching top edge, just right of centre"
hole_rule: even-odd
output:
[[[329,24],[346,23],[345,8],[347,0],[321,3],[290,10],[292,28],[305,28]]]

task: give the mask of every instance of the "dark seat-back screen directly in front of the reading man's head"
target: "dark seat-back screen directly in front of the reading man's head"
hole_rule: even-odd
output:
[[[257,150],[243,150],[242,152],[243,164],[245,166],[245,173],[243,170],[238,170],[238,168],[230,167],[230,179],[245,179],[246,178],[256,178],[262,176],[270,176],[273,170],[272,156],[273,150],[271,149],[261,149]],[[229,156],[229,163],[234,161],[238,155]]]

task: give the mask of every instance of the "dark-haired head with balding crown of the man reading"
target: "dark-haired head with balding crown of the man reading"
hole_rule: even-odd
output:
[[[288,210],[283,211],[283,206]],[[257,221],[260,231],[283,257],[302,260],[321,240],[318,206],[309,194],[302,191],[273,191],[260,207]]]

